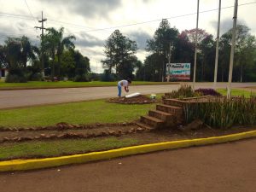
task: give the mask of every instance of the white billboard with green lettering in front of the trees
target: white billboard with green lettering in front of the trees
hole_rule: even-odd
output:
[[[168,75],[171,80],[190,80],[190,63],[167,63],[166,77]]]

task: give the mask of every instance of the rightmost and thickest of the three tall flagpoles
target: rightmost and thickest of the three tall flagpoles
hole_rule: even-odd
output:
[[[229,73],[229,83],[228,83],[228,93],[227,93],[228,98],[231,97],[231,82],[232,82],[233,61],[234,61],[234,52],[235,52],[235,44],[236,44],[237,4],[238,4],[238,0],[235,0],[235,9],[234,9],[234,17],[233,17],[233,31],[232,31],[232,44],[231,44],[231,51],[230,51],[230,73]]]

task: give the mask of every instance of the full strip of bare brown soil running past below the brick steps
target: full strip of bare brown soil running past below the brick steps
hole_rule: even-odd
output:
[[[242,131],[255,130],[253,126],[232,127],[227,130],[212,129],[202,125],[201,128],[181,129],[180,126],[169,129],[145,129],[135,123],[118,124],[95,124],[95,125],[68,125],[59,123],[54,126],[35,128],[9,129],[5,128],[0,133],[0,143],[13,143],[35,140],[55,140],[55,139],[87,139],[93,137],[133,137],[140,143],[157,143],[164,141],[174,141],[188,138],[215,137]]]

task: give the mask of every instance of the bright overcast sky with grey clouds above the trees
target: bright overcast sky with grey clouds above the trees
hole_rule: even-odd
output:
[[[256,1],[238,2],[238,23],[256,35]],[[146,40],[153,37],[161,19],[168,18],[179,32],[195,28],[197,0],[0,0],[0,5],[0,44],[8,36],[22,35],[38,44],[41,32],[34,26],[40,25],[43,10],[45,27],[63,26],[65,35],[76,36],[76,49],[90,58],[92,71],[101,73],[103,46],[115,29],[137,41],[137,57],[143,61],[148,55]],[[232,27],[232,6],[234,0],[222,0],[221,33]],[[200,12],[199,27],[215,37],[218,0],[200,0]]]

